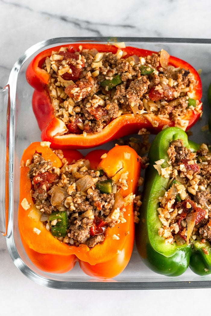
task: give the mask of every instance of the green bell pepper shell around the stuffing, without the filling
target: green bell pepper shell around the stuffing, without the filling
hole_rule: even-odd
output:
[[[159,176],[153,165],[155,161],[164,159],[162,167],[168,166],[167,150],[171,141],[176,139],[182,139],[184,146],[193,152],[199,149],[199,145],[188,141],[187,134],[177,127],[166,128],[155,137],[148,154],[149,167],[146,169],[140,221],[136,227],[136,246],[145,264],[157,273],[166,276],[179,276],[185,272],[191,260],[190,268],[195,273],[202,274],[203,271],[206,271],[207,274],[208,271],[211,273],[211,247],[209,243],[201,244],[200,241],[191,241],[190,245],[186,243],[165,245],[165,239],[158,235],[158,228],[161,227],[157,212],[158,202],[159,197],[163,196],[166,191],[169,178]],[[208,255],[205,255],[202,250],[203,247],[206,247]],[[194,251],[203,259],[200,261],[202,268],[198,269],[194,264],[196,260]]]

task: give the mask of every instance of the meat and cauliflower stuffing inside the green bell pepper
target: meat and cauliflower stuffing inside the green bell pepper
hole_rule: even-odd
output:
[[[192,153],[182,140],[176,140],[168,155],[169,167],[162,168],[162,160],[154,166],[159,174],[170,177],[168,191],[159,198],[162,227],[158,234],[166,244],[211,242],[211,152],[202,144]]]

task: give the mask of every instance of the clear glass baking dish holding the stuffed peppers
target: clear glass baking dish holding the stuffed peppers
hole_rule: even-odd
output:
[[[55,38],[35,44],[17,60],[13,66],[8,84],[0,91],[0,231],[6,238],[8,251],[14,264],[36,283],[57,289],[179,289],[210,288],[210,276],[197,276],[189,268],[178,277],[166,277],[149,270],[142,262],[134,246],[126,269],[112,280],[91,278],[81,271],[78,264],[65,274],[45,273],[34,267],[28,259],[18,231],[17,213],[19,202],[20,160],[23,150],[34,141],[40,141],[40,130],[31,106],[33,88],[28,85],[25,72],[28,64],[40,51],[73,42],[125,42],[152,51],[161,48],[201,70],[203,87],[203,115],[194,128],[190,139],[211,143],[208,129],[210,109],[207,91],[211,81],[211,40],[170,38]],[[151,136],[154,137],[154,136]],[[110,149],[115,142],[101,148]],[[82,150],[82,153],[85,153]]]

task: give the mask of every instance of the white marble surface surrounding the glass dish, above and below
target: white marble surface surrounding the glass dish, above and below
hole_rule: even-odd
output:
[[[209,0],[0,0],[0,87],[33,44],[64,36],[210,38]],[[177,315],[210,311],[211,289],[57,290],[14,265],[0,235],[0,314]],[[204,303],[205,302],[205,303]],[[202,307],[203,306],[203,307]]]

